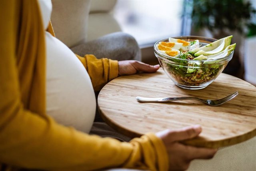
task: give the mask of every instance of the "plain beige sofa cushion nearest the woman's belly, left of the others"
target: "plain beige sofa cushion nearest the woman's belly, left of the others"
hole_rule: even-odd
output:
[[[52,26],[56,38],[68,47],[85,42],[90,0],[52,0]]]

